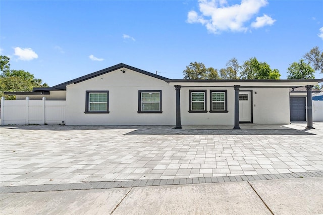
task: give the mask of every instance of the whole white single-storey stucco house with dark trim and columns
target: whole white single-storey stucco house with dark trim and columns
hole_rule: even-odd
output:
[[[230,125],[239,129],[240,123],[290,123],[290,88],[307,86],[311,95],[312,85],[322,81],[169,79],[121,63],[50,88],[6,94],[15,94],[17,100],[28,96],[29,101],[44,97],[66,101],[66,125],[174,125],[177,129]],[[2,118],[5,125],[6,110]]]

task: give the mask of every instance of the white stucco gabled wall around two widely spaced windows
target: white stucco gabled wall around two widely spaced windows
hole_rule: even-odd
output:
[[[109,114],[85,114],[86,91],[109,90]],[[163,113],[137,113],[139,90],[161,90]],[[129,69],[67,86],[66,125],[175,125],[175,88]]]

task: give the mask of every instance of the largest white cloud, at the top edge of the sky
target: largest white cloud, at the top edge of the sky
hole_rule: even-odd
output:
[[[267,4],[267,0],[242,0],[240,5],[229,6],[225,0],[199,0],[201,14],[190,11],[187,22],[205,25],[214,34],[222,31],[246,32],[247,22]]]

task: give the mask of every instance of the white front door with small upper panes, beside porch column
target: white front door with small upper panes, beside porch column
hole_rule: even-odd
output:
[[[239,121],[251,123],[251,91],[239,91]]]

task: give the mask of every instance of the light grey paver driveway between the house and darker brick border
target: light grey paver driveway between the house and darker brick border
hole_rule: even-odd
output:
[[[322,171],[323,123],[305,126],[5,126],[0,186]]]

